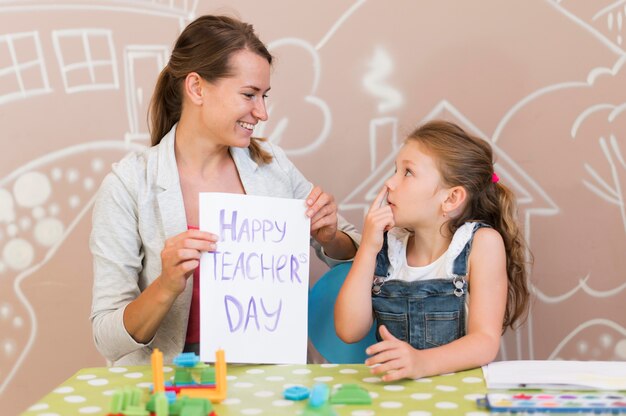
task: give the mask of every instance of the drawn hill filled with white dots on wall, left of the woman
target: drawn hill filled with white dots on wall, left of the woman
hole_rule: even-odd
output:
[[[4,327],[0,336],[0,351],[4,353],[0,393],[11,382],[37,335],[37,316],[21,285],[54,256],[91,209],[94,184],[108,173],[102,156],[96,155],[117,160],[144,148],[121,140],[84,143],[33,160],[0,180],[0,227],[6,230],[0,239],[0,277],[3,286],[10,283],[12,289],[0,291],[3,314],[11,318],[10,325],[0,322]],[[91,157],[91,163],[87,171],[80,171],[75,166],[85,157]],[[68,162],[69,168],[60,167]],[[16,295],[18,304],[7,300],[9,293]]]

